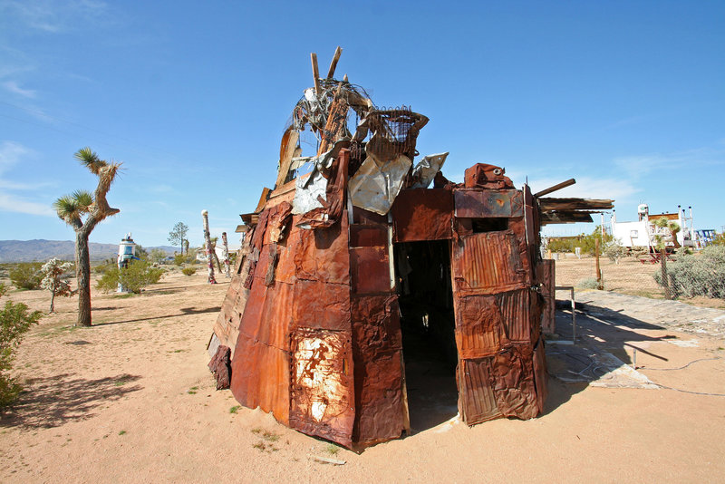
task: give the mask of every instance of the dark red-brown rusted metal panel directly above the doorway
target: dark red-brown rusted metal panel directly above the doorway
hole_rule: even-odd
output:
[[[447,189],[404,189],[391,213],[395,242],[453,237],[453,195]]]

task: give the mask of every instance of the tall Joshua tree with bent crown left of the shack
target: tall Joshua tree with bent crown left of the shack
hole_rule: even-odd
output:
[[[98,177],[95,193],[76,190],[55,200],[53,208],[58,217],[75,230],[75,271],[78,278],[78,325],[91,325],[91,257],[88,253],[88,237],[93,228],[104,218],[121,210],[111,208],[106,194],[121,168],[121,163],[98,158],[95,151],[82,148],[73,155],[76,160]]]

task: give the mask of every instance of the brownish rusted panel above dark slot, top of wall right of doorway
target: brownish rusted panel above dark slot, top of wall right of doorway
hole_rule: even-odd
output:
[[[454,189],[456,217],[523,217],[524,198],[520,190]]]

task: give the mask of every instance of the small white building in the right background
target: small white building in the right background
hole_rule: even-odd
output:
[[[641,204],[637,207],[638,220],[633,222],[617,221],[616,211],[612,212],[612,235],[618,240],[623,247],[647,247],[652,249],[657,244],[658,236],[662,237],[665,246],[673,247],[672,233],[666,227],[657,227],[654,220],[657,218],[666,218],[668,221],[677,222],[680,231],[677,233],[677,242],[682,247],[694,247],[694,240],[697,237],[692,229],[692,208],[690,207],[690,216],[685,215],[684,208],[677,207],[675,213],[662,213],[659,215],[650,215],[650,208],[647,204]]]

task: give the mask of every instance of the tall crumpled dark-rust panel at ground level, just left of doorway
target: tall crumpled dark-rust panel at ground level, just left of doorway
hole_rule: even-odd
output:
[[[353,440],[372,444],[401,436],[401,324],[396,295],[353,296],[355,427]]]

